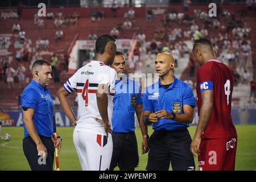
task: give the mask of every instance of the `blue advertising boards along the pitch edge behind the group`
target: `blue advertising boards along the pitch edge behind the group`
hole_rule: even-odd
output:
[[[74,110],[77,113],[77,110]],[[72,126],[63,110],[54,111],[57,126]],[[232,118],[235,125],[256,125],[256,109],[232,109]],[[5,111],[0,113],[2,126],[23,126],[21,111]],[[197,124],[197,109],[192,125]]]

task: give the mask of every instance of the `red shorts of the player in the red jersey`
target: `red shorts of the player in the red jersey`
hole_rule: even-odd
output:
[[[198,157],[200,171],[234,171],[237,137],[201,139]]]

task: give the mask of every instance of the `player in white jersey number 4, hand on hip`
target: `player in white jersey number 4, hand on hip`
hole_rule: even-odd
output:
[[[101,35],[96,40],[96,60],[80,68],[59,89],[57,96],[73,125],[73,142],[82,170],[109,170],[112,158],[112,113],[116,72],[113,63],[115,39]],[[77,92],[79,119],[69,104],[68,94]]]

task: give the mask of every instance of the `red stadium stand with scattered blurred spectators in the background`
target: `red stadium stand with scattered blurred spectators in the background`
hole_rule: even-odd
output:
[[[70,14],[73,13],[73,8],[67,9],[51,9],[53,14],[57,17],[55,19],[43,18],[44,26],[38,28],[38,24],[35,23],[38,19],[31,18],[32,15],[35,14],[35,9],[26,9],[23,13],[22,20],[17,20],[16,18],[9,19],[0,19],[0,40],[1,40],[1,49],[0,49],[0,64],[4,67],[4,63],[8,62],[10,67],[14,69],[18,68],[18,61],[15,59],[17,57],[17,51],[20,49],[23,52],[24,48],[27,48],[30,52],[30,58],[28,60],[29,64],[26,66],[26,82],[28,83],[31,79],[30,67],[32,61],[36,59],[36,57],[42,57],[42,59],[46,59],[48,61],[51,60],[52,54],[55,53],[59,59],[59,70],[60,70],[60,81],[53,83],[49,86],[52,95],[54,95],[63,82],[67,80],[72,75],[72,72],[68,71],[65,68],[65,56],[68,56],[71,52],[72,46],[76,40],[86,40],[88,39],[88,35],[94,32],[97,36],[101,34],[110,34],[110,31],[115,27],[119,28],[119,36],[118,39],[136,39],[135,35],[138,35],[139,32],[142,32],[146,36],[146,41],[138,41],[137,45],[132,49],[133,56],[131,59],[135,64],[134,72],[137,73],[154,73],[154,56],[155,53],[160,51],[170,51],[174,53],[174,55],[178,55],[179,59],[177,59],[177,68],[176,68],[176,76],[180,77],[181,80],[185,80],[188,83],[191,83],[192,87],[195,88],[196,81],[196,69],[197,65],[193,63],[190,57],[189,49],[193,46],[193,33],[194,31],[191,27],[195,22],[195,24],[199,27],[199,31],[204,27],[208,26],[206,29],[208,30],[207,38],[216,41],[216,46],[218,47],[218,56],[225,61],[226,64],[229,64],[228,59],[226,59],[226,55],[229,49],[234,51],[236,49],[233,46],[234,40],[240,42],[238,45],[238,52],[234,51],[234,61],[231,65],[234,73],[237,75],[237,83],[234,88],[233,94],[233,102],[235,105],[246,105],[249,96],[250,96],[250,81],[253,80],[255,75],[256,63],[255,59],[255,51],[256,51],[256,16],[251,16],[247,14],[245,5],[240,6],[226,6],[222,7],[222,13],[230,13],[230,18],[234,16],[235,26],[230,24],[229,27],[229,19],[227,15],[219,15],[218,21],[220,22],[220,26],[218,28],[213,28],[213,19],[210,19],[207,22],[207,19],[200,18],[200,11],[203,12],[207,9],[207,7],[198,7],[191,6],[189,9],[189,14],[185,14],[183,19],[175,20],[175,16],[170,15],[169,13],[181,13],[182,6],[172,6],[172,7],[153,7],[152,11],[154,13],[154,17],[152,20],[146,20],[146,7],[134,8],[135,17],[130,18],[131,23],[137,25],[137,28],[131,30],[122,30],[121,24],[125,21],[125,13],[130,10],[130,7],[121,7],[117,11],[117,17],[113,18],[111,8],[77,8],[77,16],[75,20],[72,20]],[[84,11],[86,10],[86,11]],[[92,10],[102,10],[104,12],[104,19],[95,20],[92,22],[90,18],[90,13]],[[200,10],[200,11],[194,11]],[[5,10],[6,11],[6,10]],[[60,11],[60,12],[59,12]],[[2,10],[4,12],[4,10]],[[27,12],[27,13],[26,13]],[[62,14],[62,15],[61,15]],[[177,15],[179,16],[179,15]],[[202,14],[203,16],[203,14]],[[171,17],[171,18],[170,18]],[[127,17],[126,17],[127,18]],[[173,19],[172,19],[173,18]],[[58,23],[58,19],[60,22]],[[240,22],[238,22],[240,20]],[[55,22],[56,21],[56,22]],[[62,22],[61,22],[62,21]],[[19,37],[16,34],[13,34],[12,28],[15,23],[19,23],[20,30],[25,32],[25,42],[20,44]],[[73,23],[72,23],[73,22]],[[240,25],[237,25],[239,24]],[[246,26],[245,26],[246,23]],[[221,26],[225,26],[223,29],[224,34],[220,34],[222,32]],[[233,27],[232,27],[233,26]],[[241,31],[245,31],[245,28],[250,28],[250,31],[246,33],[247,35],[243,38],[235,38],[233,34],[233,29],[241,27]],[[179,30],[180,28],[180,30]],[[197,29],[197,28],[196,28]],[[242,30],[243,29],[243,30]],[[63,38],[59,41],[56,41],[55,32],[57,30],[63,31]],[[175,32],[174,32],[175,30]],[[189,34],[190,32],[190,34]],[[225,38],[225,32],[228,34],[228,39]],[[181,36],[179,36],[179,33]],[[175,34],[175,35],[174,35]],[[176,36],[176,39],[173,39],[173,36]],[[42,49],[39,49],[36,41],[40,39],[47,39],[49,44],[48,46],[44,46]],[[151,42],[152,40],[156,40],[156,51],[151,50]],[[167,41],[166,41],[167,40]],[[170,41],[169,41],[170,40]],[[172,41],[174,40],[174,41]],[[226,42],[225,42],[226,40]],[[250,73],[247,76],[248,80],[242,82],[244,69],[241,69],[241,60],[245,59],[242,57],[242,45],[243,42],[248,41],[251,47],[251,51],[249,51],[249,56],[247,55],[247,71]],[[45,44],[45,42],[43,42]],[[46,43],[47,44],[47,43]],[[183,47],[183,44],[188,48]],[[38,44],[39,45],[39,44]],[[179,49],[179,52],[175,52],[176,49]],[[246,49],[246,48],[245,48]],[[224,55],[224,57],[221,57]],[[251,55],[251,56],[250,56]],[[18,55],[19,56],[19,55]],[[191,62],[192,61],[192,62]],[[195,73],[191,73],[191,64],[195,64]],[[240,65],[239,65],[240,64]],[[239,78],[240,77],[240,78]],[[18,96],[22,93],[23,88],[19,88],[17,83],[17,78],[14,77],[15,88],[8,89],[6,81],[1,83],[1,94],[0,94],[0,108],[4,110],[12,110],[19,109]],[[75,106],[75,94],[72,93],[70,96],[71,104]]]

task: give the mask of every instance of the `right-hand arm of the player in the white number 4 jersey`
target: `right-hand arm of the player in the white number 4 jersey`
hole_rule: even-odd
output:
[[[101,125],[104,127],[106,131],[106,137],[108,138],[109,133],[112,133],[112,129],[109,125],[108,95],[107,95],[108,93],[104,92],[104,90],[106,90],[105,88],[108,88],[108,85],[100,84],[98,86],[98,90],[96,93],[98,111],[100,112],[101,118],[102,118],[102,121],[100,121],[100,119],[97,119],[97,121],[100,122]]]

